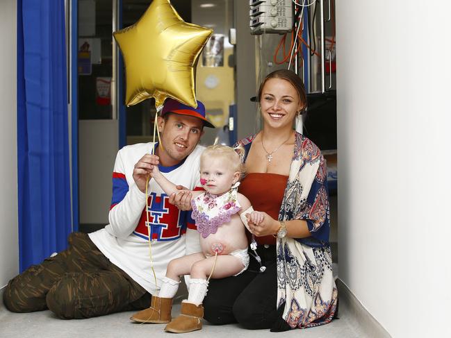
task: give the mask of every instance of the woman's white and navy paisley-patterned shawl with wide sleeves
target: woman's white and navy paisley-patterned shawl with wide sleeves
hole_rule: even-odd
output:
[[[238,142],[249,152],[255,135]],[[329,198],[325,160],[311,140],[295,133],[295,150],[279,220],[302,219],[311,237],[277,239],[277,307],[291,328],[329,323],[337,290],[329,248]]]

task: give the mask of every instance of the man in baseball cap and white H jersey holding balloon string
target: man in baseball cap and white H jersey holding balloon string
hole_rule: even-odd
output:
[[[191,108],[168,99],[161,115],[161,144],[154,151],[159,162],[150,155],[152,143],[121,149],[113,172],[110,223],[90,235],[72,233],[67,250],[10,280],[3,294],[9,310],[49,308],[64,319],[142,310],[161,285],[167,263],[200,250],[190,214],[170,203],[186,202],[189,196],[166,196],[154,180],[146,191],[146,182],[149,169],[158,164],[167,178],[194,189],[203,151],[197,144],[204,126],[213,125],[199,101]]]

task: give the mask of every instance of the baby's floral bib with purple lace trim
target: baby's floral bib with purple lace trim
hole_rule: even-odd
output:
[[[238,192],[235,189],[216,196],[204,192],[191,200],[192,219],[203,238],[218,231],[218,227],[229,223],[231,216],[241,210]]]

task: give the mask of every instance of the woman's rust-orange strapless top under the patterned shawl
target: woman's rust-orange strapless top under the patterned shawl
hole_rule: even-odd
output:
[[[241,181],[238,191],[249,198],[252,208],[264,211],[273,219],[279,218],[288,176],[268,173],[249,173]],[[246,232],[249,239],[252,235]],[[276,244],[274,236],[255,237],[257,244]]]

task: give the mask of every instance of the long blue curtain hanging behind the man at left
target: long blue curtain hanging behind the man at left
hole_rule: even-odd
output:
[[[17,1],[19,265],[71,232],[64,0]]]

